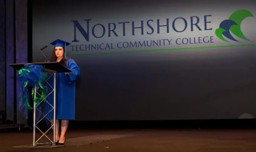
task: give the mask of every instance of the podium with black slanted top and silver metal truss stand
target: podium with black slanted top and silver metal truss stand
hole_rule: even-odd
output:
[[[35,63],[19,63],[19,64],[9,64],[9,66],[13,67],[16,70],[20,70],[24,67],[25,64],[33,64],[33,65],[41,65],[44,67],[44,70],[46,73],[51,74],[50,77],[48,77],[44,83],[47,83],[51,88],[52,91],[48,91],[48,95],[46,95],[46,97],[40,101],[43,102],[44,100],[46,101],[46,103],[48,103],[52,109],[47,113],[47,114],[43,114],[43,118],[41,118],[38,122],[36,122],[36,110],[37,109],[37,105],[35,104],[35,102],[33,102],[33,144],[32,146],[27,146],[27,147],[45,147],[45,146],[49,146],[49,143],[37,143],[43,136],[46,136],[52,143],[51,143],[51,148],[52,146],[55,146],[55,122],[56,122],[56,73],[66,73],[66,72],[71,72],[71,70],[69,70],[68,68],[62,66],[61,64],[59,64],[58,62],[35,62]],[[53,81],[54,81],[54,86],[51,86],[47,81],[49,80],[49,78],[51,78],[53,76]],[[50,95],[54,93],[54,101],[53,101],[53,105],[51,105],[46,98]],[[36,98],[38,92],[36,89],[36,86],[34,86],[34,98]],[[39,94],[38,94],[39,95]],[[40,105],[40,103],[38,105]],[[46,131],[43,132],[41,131],[38,127],[37,124],[43,120],[44,118],[48,119],[46,116],[53,110],[53,124],[51,123],[51,127]],[[48,119],[49,120],[49,119]],[[50,120],[49,120],[50,121]],[[51,128],[53,127],[53,140],[51,140],[47,135],[45,135]],[[38,129],[43,135],[36,140],[36,129]],[[21,146],[21,147],[26,147],[26,146]]]

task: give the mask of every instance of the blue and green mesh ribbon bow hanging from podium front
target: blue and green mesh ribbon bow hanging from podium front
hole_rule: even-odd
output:
[[[25,107],[24,114],[26,115],[27,109],[34,109],[30,106],[30,96],[33,97],[33,101],[35,102],[36,106],[44,100],[46,97],[46,90],[43,86],[44,81],[47,78],[47,74],[44,73],[44,67],[41,65],[34,65],[34,64],[25,64],[24,68],[20,69],[18,71],[19,77],[21,78],[22,85],[21,85],[21,99],[19,102],[19,108],[20,110]],[[33,90],[31,94],[29,94],[28,91],[28,85],[30,85]],[[34,90],[36,88],[37,90],[41,90],[41,97],[34,98],[34,93],[36,91]]]

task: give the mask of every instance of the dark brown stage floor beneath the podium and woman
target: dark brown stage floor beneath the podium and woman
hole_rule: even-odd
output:
[[[2,132],[0,151],[256,152],[256,130],[70,130],[66,138],[65,147],[14,148],[32,143],[32,132]]]

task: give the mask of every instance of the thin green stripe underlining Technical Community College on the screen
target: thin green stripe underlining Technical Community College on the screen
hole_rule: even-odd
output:
[[[173,48],[173,49],[136,50],[136,51],[119,51],[119,52],[96,52],[96,53],[85,53],[85,54],[72,54],[72,56],[100,55],[100,54],[121,54],[121,53],[140,53],[140,52],[158,52],[158,51],[177,51],[177,50],[196,50],[196,49],[211,49],[211,48],[224,48],[224,47],[249,47],[249,46],[254,46],[254,44],[222,45],[222,46],[211,46],[211,47],[184,47],[184,48]]]

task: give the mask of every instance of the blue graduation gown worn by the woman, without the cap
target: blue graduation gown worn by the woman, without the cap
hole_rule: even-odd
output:
[[[76,93],[76,79],[80,75],[80,68],[73,59],[66,61],[66,67],[72,72],[69,74],[56,74],[56,119],[59,120],[74,120],[75,119],[75,93]],[[50,74],[48,75],[48,77]],[[53,75],[47,81],[53,88]],[[47,85],[48,93],[52,88]],[[53,106],[54,93],[47,97],[47,101]],[[52,107],[46,103],[45,113],[48,113]],[[48,119],[53,119],[53,110],[47,115]]]

